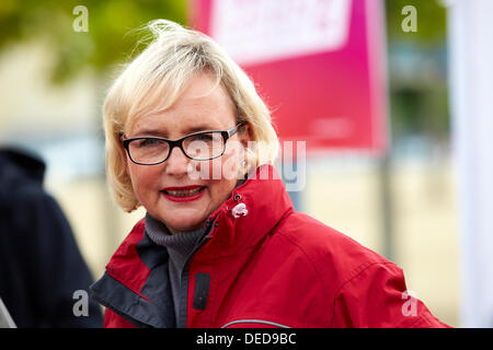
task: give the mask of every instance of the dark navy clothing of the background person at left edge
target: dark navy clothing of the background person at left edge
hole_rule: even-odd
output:
[[[43,188],[44,173],[33,155],[0,150],[0,298],[20,328],[101,327],[102,312],[90,298],[89,316],[74,316],[83,299],[73,292],[88,291],[93,279],[66,217]]]

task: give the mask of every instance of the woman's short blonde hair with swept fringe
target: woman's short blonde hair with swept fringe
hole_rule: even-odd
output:
[[[138,116],[165,110],[180,97],[194,74],[207,71],[226,88],[237,112],[237,122],[250,126],[254,149],[250,167],[274,163],[279,141],[271,113],[242,69],[207,35],[168,20],[147,26],[152,42],[110,88],[103,105],[106,176],[116,203],[127,212],[140,203],[125,168],[122,136]]]

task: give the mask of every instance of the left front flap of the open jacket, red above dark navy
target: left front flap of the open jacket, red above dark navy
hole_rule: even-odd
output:
[[[139,327],[175,326],[168,250],[145,234],[140,220],[90,287],[92,298]]]

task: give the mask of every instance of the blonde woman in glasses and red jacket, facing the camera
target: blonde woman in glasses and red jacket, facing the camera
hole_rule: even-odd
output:
[[[104,104],[111,189],[147,210],[93,296],[105,327],[444,327],[392,262],[296,212],[244,72],[169,21]]]

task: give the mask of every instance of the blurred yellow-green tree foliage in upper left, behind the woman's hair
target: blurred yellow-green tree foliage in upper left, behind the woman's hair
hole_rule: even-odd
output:
[[[88,9],[88,32],[76,32],[73,21]],[[91,67],[104,73],[133,51],[131,30],[153,19],[185,24],[186,0],[1,0],[0,51],[23,40],[42,40],[54,54],[51,81],[62,83]],[[138,48],[136,49],[138,52]]]

